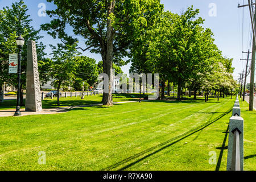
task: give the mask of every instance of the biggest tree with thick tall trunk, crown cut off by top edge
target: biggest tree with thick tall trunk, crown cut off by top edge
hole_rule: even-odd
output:
[[[104,105],[112,105],[112,63],[122,65],[127,48],[147,24],[147,19],[157,17],[163,6],[160,0],[47,0],[57,6],[47,11],[56,18],[42,26],[53,38],[65,44],[76,39],[65,32],[69,25],[76,35],[81,35],[91,52],[101,53],[103,71],[109,76],[109,93],[104,93]],[[79,48],[79,47],[77,47]]]

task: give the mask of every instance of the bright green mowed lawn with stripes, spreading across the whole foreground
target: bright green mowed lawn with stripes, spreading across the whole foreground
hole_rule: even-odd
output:
[[[0,169],[226,170],[233,104],[211,97],[207,103],[147,101],[1,117]],[[242,110],[245,170],[255,170],[255,114]],[[38,163],[40,151],[45,165]],[[211,151],[216,164],[209,164]]]

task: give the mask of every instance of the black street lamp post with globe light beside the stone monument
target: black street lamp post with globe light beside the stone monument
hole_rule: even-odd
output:
[[[18,92],[17,92],[17,106],[16,106],[16,111],[14,113],[14,116],[21,115],[20,113],[20,70],[21,70],[21,52],[22,52],[22,47],[24,45],[25,40],[22,38],[22,36],[19,36],[16,38],[16,44],[19,49],[19,54],[18,54]]]

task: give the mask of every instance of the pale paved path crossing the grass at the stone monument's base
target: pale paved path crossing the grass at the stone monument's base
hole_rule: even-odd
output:
[[[114,104],[125,104],[131,102],[138,102],[138,101],[126,101],[126,102],[114,102]],[[67,113],[69,109],[75,109],[79,107],[91,107],[91,106],[101,106],[102,104],[88,104],[88,105],[80,105],[80,106],[71,106],[71,107],[56,107],[51,109],[43,109],[40,112],[29,112],[25,111],[25,109],[20,109],[21,116],[24,115],[39,115],[39,114],[58,114],[58,113]],[[9,110],[0,110],[0,117],[9,117],[13,116],[16,109],[9,109]]]

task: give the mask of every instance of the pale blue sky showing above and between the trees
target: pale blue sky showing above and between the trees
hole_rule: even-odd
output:
[[[182,11],[186,10],[187,7],[193,5],[196,9],[200,10],[200,16],[205,19],[204,27],[208,27],[213,31],[215,43],[218,48],[222,51],[223,55],[229,58],[233,58],[233,67],[235,67],[234,78],[237,78],[238,73],[241,73],[245,69],[245,61],[240,61],[240,59],[245,59],[246,54],[242,54],[242,51],[247,51],[250,44],[250,15],[248,7],[244,9],[238,9],[237,5],[243,4],[245,0],[161,0],[164,5],[164,10],[171,11],[172,13],[180,14]],[[0,9],[6,6],[11,6],[11,3],[15,0],[0,0]],[[32,21],[32,26],[36,29],[40,28],[40,24],[49,23],[51,18],[46,16],[39,16],[38,7],[39,3],[45,3],[46,10],[55,9],[53,3],[48,3],[46,0],[24,0],[28,6],[28,14]],[[211,11],[213,6],[209,5],[214,3],[216,6],[216,11]],[[216,16],[209,15],[210,12],[216,12]],[[244,18],[242,18],[244,16]],[[243,26],[242,26],[243,25]],[[242,28],[243,27],[243,28]],[[70,32],[72,34],[72,32]],[[48,44],[56,44],[58,40],[53,40],[51,36],[48,36],[46,32],[42,31],[41,35],[44,36],[42,42],[48,46]],[[77,37],[81,45],[84,42],[80,37]],[[51,53],[49,46],[46,52]],[[83,53],[86,56],[93,57],[97,61],[101,60],[101,55],[90,53],[86,51]],[[122,67],[125,73],[129,72],[130,64]],[[248,82],[250,80],[247,79]]]

